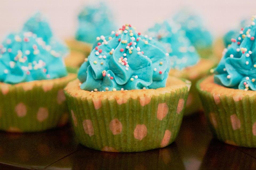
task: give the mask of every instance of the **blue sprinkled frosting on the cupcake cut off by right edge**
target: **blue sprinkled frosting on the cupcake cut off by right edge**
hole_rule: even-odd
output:
[[[219,65],[215,69],[214,82],[225,87],[256,90],[255,16],[250,26],[241,28],[239,36],[232,39]]]

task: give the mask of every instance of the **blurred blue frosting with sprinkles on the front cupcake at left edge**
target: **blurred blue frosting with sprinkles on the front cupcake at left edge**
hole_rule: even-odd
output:
[[[32,32],[11,33],[0,44],[0,82],[17,84],[66,75],[62,57]]]

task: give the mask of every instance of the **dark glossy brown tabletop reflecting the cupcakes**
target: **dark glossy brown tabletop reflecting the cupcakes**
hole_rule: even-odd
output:
[[[145,152],[114,153],[79,145],[70,126],[41,133],[0,132],[2,169],[256,169],[256,149],[212,139],[202,113],[183,119],[174,143]]]

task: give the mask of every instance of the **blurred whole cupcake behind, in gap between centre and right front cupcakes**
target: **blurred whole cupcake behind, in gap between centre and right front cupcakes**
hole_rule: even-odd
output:
[[[195,47],[190,43],[179,24],[164,21],[157,23],[146,32],[150,39],[161,43],[169,55],[171,70],[170,75],[178,78],[189,79],[192,86],[189,92],[185,115],[202,111],[198,92],[195,88],[197,80],[207,75],[214,62],[200,59]]]

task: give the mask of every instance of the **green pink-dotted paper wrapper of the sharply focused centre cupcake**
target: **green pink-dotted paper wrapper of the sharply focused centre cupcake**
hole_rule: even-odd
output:
[[[190,82],[186,82],[190,87]],[[165,147],[175,140],[187,100],[187,86],[145,97],[148,104],[139,97],[130,97],[125,103],[120,103],[120,99],[93,101],[73,97],[66,91],[67,87],[65,95],[82,145],[102,151],[136,152]]]

